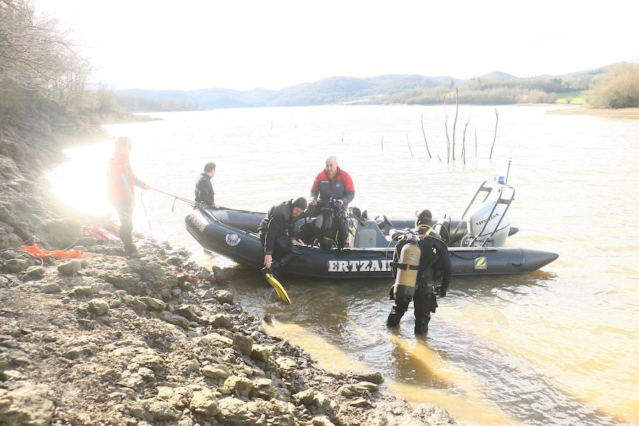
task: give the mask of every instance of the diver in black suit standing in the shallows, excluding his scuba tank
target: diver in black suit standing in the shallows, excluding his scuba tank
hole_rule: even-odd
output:
[[[421,251],[420,265],[417,269],[415,295],[413,296],[413,303],[415,305],[415,334],[428,333],[430,313],[435,312],[435,308],[437,308],[436,294],[439,295],[439,297],[446,295],[452,275],[452,264],[450,262],[448,247],[430,227],[431,219],[430,212],[424,210],[418,215],[415,221],[415,230],[419,234],[419,247]],[[400,240],[398,245],[395,246],[395,255],[393,256],[393,263],[395,263],[395,265],[399,262],[399,253],[401,253],[405,244],[406,240]],[[395,278],[397,266],[391,265],[391,268],[393,270],[393,278]],[[435,280],[439,280],[439,278],[442,279],[442,283],[434,289],[433,283]],[[388,327],[397,327],[402,316],[406,310],[408,310],[410,298],[397,300],[398,297],[394,297],[393,289],[391,288],[391,299],[395,300],[395,304],[393,305],[391,314],[388,315],[386,325],[388,325]]]

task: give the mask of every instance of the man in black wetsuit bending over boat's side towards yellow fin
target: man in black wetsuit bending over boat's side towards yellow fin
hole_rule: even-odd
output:
[[[260,241],[264,246],[263,273],[277,275],[278,271],[293,256],[299,256],[300,250],[295,246],[304,243],[294,238],[295,219],[306,209],[306,199],[288,200],[268,210],[259,228]],[[275,257],[275,260],[273,260]]]

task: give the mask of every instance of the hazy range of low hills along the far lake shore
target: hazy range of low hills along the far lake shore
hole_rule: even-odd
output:
[[[572,72],[565,75],[515,77],[493,71],[470,80],[449,76],[378,75],[376,77],[328,77],[297,84],[281,90],[256,88],[142,90],[114,92],[116,107],[125,111],[176,111],[187,109],[288,107],[324,104],[435,104],[441,102],[454,85],[459,87],[460,102],[508,104],[519,102],[555,102],[557,92],[579,92],[608,67]]]

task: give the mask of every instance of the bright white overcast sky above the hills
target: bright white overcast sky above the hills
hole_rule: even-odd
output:
[[[520,77],[639,60],[639,2],[35,0],[116,89]]]

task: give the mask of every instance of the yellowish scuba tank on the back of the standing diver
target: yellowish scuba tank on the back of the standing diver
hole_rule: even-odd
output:
[[[401,302],[409,300],[415,295],[415,285],[417,285],[417,270],[420,267],[420,257],[422,251],[420,249],[419,237],[415,234],[408,234],[405,238],[405,244],[397,253],[398,247],[395,248],[395,263],[397,275],[395,276],[395,284],[393,284],[393,299]],[[399,246],[399,244],[398,244]]]

